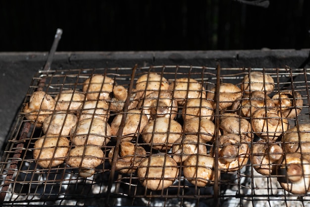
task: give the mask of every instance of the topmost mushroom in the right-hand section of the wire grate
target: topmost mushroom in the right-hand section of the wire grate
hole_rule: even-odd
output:
[[[240,88],[244,93],[266,91],[266,94],[270,94],[274,88],[274,80],[271,75],[267,73],[253,71],[244,76]]]

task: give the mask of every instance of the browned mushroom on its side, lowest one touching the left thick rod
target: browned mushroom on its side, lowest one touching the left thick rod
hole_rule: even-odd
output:
[[[114,148],[108,153],[109,163],[112,164],[112,158],[114,154]],[[146,150],[142,146],[136,146],[129,141],[122,141],[120,143],[120,151],[117,155],[117,161],[115,162],[116,170],[121,173],[133,173],[136,171],[137,166],[146,157]]]

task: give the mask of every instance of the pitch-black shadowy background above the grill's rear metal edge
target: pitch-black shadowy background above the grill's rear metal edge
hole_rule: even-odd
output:
[[[57,28],[58,51],[310,48],[309,0],[0,0],[0,23],[2,52],[48,51]]]

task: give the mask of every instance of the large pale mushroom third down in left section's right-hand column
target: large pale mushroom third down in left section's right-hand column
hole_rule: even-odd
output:
[[[105,146],[111,138],[111,128],[102,119],[84,119],[71,129],[70,138],[74,145]]]

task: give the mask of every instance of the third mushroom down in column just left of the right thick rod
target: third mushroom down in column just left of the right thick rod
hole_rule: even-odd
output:
[[[215,125],[211,120],[193,117],[184,122],[184,134],[198,135],[201,142],[213,142]],[[220,132],[219,132],[220,134]]]

